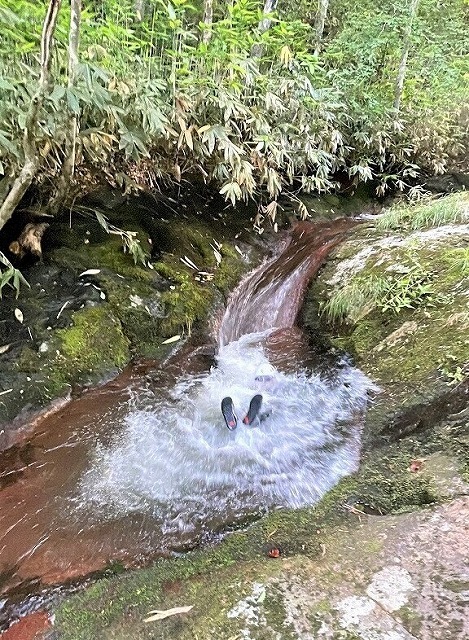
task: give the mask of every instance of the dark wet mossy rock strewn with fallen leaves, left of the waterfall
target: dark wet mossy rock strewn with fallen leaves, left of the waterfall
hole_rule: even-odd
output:
[[[225,228],[210,214],[201,220],[191,207],[182,220],[163,200],[150,206],[143,198],[96,194],[72,217],[67,212],[51,222],[43,261],[24,268],[30,287],[23,286],[18,299],[15,291],[3,290],[0,450],[57,398],[110,379],[132,358],[167,355],[174,345],[163,344],[165,338],[196,330],[249,268],[234,248],[243,238],[232,233],[237,226],[236,235],[247,239],[243,216]],[[99,223],[97,206],[114,225],[112,234]],[[134,261],[119,231],[126,229],[153,268]],[[248,253],[259,259],[260,245]],[[213,279],[197,282],[181,263],[184,256]]]

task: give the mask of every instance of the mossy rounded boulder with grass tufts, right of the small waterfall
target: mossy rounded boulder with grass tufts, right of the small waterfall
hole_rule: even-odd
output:
[[[448,199],[460,221],[467,197]],[[418,217],[418,208],[412,214]],[[377,441],[373,434],[410,432],[411,418],[415,428],[428,426],[416,416],[425,407],[433,412],[446,403],[450,412],[461,404],[452,389],[468,374],[468,245],[468,227],[460,222],[400,232],[367,222],[335,250],[307,294],[305,327],[350,353],[382,389],[367,417],[370,442]],[[408,430],[399,431],[399,422]]]

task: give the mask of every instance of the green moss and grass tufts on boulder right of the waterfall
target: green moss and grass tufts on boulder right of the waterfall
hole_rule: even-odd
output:
[[[363,230],[356,233],[361,238]],[[459,241],[465,242],[464,238]],[[459,249],[447,249],[441,243],[426,246],[416,240],[390,247],[384,255],[371,255],[358,273],[342,279],[332,291],[320,279],[312,289],[315,299],[307,300],[307,324],[317,332],[308,313],[317,317],[318,308],[329,305],[335,322],[326,330],[333,343],[351,353],[382,384],[423,384],[438,369],[461,377],[469,360],[469,312],[466,275],[459,262],[457,268],[448,269],[448,256],[454,257],[454,251]],[[461,251],[464,258],[466,249]],[[390,270],[397,274],[391,289],[364,289],[365,282],[387,281]],[[328,277],[330,272],[326,282]],[[415,291],[409,292],[408,287]],[[320,320],[324,330],[327,316]]]

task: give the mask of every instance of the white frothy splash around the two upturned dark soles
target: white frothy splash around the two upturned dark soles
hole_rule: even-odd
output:
[[[267,333],[223,347],[218,366],[181,380],[170,401],[129,412],[116,441],[97,448],[80,502],[109,517],[145,511],[175,533],[260,506],[312,504],[354,471],[370,382],[345,363],[328,381],[278,372],[274,393],[263,392],[269,416],[234,432],[224,426],[224,396],[242,418],[259,392]]]

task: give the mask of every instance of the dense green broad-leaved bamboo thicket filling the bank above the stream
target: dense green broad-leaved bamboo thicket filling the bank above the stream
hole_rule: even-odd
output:
[[[24,163],[47,4],[0,2],[0,205]],[[55,29],[52,82],[34,131],[35,180],[45,192],[61,170],[71,116],[82,187],[103,177],[155,188],[202,176],[233,204],[327,191],[339,178],[377,178],[384,192],[419,167],[443,172],[464,156],[466,0],[420,0],[411,29],[411,0],[334,0],[320,48],[305,1],[280,0],[267,26],[255,0],[215,3],[211,24],[195,0],[84,4],[73,83],[69,3]]]

